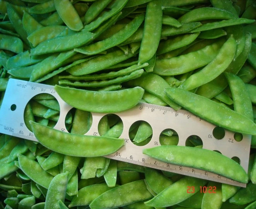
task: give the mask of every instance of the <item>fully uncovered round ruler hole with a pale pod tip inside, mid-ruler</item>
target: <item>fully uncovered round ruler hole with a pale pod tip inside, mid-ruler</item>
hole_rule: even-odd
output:
[[[138,120],[134,122],[129,129],[129,138],[133,144],[137,146],[144,146],[148,144],[152,138],[153,130],[151,125],[144,121]],[[158,145],[158,141],[154,142]]]

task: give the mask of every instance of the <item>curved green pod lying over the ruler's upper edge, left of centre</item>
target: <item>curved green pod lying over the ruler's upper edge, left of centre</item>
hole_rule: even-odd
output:
[[[112,92],[96,92],[55,85],[55,90],[61,99],[69,105],[90,112],[120,112],[129,109],[140,101],[144,93],[140,87]],[[73,97],[69,95],[73,95]]]

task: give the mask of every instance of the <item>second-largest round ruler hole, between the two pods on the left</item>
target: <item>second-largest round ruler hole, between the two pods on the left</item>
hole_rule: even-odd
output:
[[[65,126],[72,134],[86,134],[92,127],[92,114],[90,112],[72,108],[65,117]]]

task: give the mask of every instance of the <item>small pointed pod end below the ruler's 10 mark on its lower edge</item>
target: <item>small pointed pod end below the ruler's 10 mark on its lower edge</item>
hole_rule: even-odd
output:
[[[104,179],[108,187],[116,186],[117,179],[117,163],[114,160],[110,160],[108,169],[104,173]]]

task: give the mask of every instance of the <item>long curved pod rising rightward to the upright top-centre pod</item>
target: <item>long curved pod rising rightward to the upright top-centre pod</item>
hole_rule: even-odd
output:
[[[143,20],[144,15],[138,15],[130,23],[128,23],[125,27],[123,27],[111,37],[85,47],[75,48],[74,51],[80,52],[82,54],[94,55],[114,47],[129,38],[138,29],[138,27],[140,27]]]

